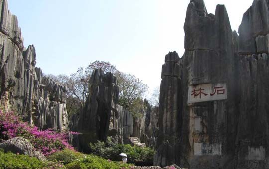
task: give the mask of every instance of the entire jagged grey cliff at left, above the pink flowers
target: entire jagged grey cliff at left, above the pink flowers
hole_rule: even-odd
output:
[[[68,130],[66,88],[36,68],[33,45],[23,48],[17,17],[0,0],[0,101],[41,129]]]

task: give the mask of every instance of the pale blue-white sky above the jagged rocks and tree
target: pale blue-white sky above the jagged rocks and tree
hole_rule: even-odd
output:
[[[208,13],[225,4],[233,30],[253,0],[204,0]],[[169,51],[184,53],[183,25],[190,0],[8,0],[24,46],[34,44],[45,74],[75,73],[109,61],[149,86],[160,86]]]

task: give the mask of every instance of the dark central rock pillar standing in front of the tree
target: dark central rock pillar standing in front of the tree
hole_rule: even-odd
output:
[[[84,111],[78,121],[79,146],[88,150],[90,142],[106,141],[111,136],[114,142],[123,143],[123,137],[133,132],[132,115],[118,105],[119,89],[112,73],[104,75],[101,69],[95,70],[90,78],[89,95]]]

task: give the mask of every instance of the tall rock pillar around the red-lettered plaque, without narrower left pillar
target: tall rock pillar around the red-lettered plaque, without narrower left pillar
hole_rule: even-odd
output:
[[[203,16],[199,15],[201,8]],[[197,5],[194,0],[187,9],[184,30],[182,142],[186,147],[181,150],[185,156],[181,162],[193,169],[233,168],[238,127],[236,41],[225,6],[217,5],[215,15],[212,15],[207,14],[203,3]],[[193,32],[200,37],[195,37]],[[188,104],[190,85],[219,83],[227,85],[228,99]]]

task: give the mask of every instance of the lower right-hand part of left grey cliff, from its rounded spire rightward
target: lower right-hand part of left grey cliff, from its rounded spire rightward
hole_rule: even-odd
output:
[[[23,52],[24,58],[24,99],[22,115],[40,129],[68,130],[66,111],[66,87],[43,76],[36,68],[34,46]],[[16,86],[15,86],[16,87]]]

